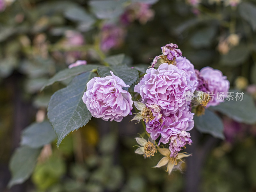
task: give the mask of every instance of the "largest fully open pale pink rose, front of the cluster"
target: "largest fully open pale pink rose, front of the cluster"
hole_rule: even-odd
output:
[[[191,101],[185,100],[187,91],[193,92],[193,82],[174,65],[163,63],[158,69],[150,68],[134,91],[140,93],[142,103],[156,104],[165,116],[184,110]]]

